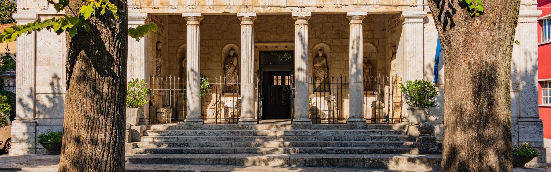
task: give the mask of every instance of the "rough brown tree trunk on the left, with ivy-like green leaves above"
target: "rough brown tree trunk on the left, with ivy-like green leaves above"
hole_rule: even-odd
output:
[[[90,20],[90,32],[67,36],[67,92],[59,171],[124,171],[126,61],[128,15],[126,0],[118,8]],[[71,0],[67,15],[84,1]]]

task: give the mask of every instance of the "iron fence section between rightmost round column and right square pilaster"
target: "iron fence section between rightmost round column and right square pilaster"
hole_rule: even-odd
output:
[[[364,116],[370,123],[402,123],[402,83],[398,76],[364,80]]]

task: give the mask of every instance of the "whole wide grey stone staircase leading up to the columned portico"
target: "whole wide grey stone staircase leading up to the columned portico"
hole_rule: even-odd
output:
[[[128,143],[127,163],[439,169],[407,127],[369,125],[151,125]]]

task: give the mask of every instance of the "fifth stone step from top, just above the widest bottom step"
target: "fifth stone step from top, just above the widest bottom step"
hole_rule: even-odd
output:
[[[287,148],[135,148],[134,154],[285,154],[285,153],[326,153],[326,154],[418,154],[414,148],[350,148],[350,147],[287,147]]]

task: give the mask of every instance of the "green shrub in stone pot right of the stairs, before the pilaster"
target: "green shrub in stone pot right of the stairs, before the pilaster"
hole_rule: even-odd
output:
[[[436,85],[429,80],[415,79],[413,82],[408,80],[406,85],[400,84],[399,88],[406,94],[409,122],[413,125],[426,122],[428,107],[436,107],[432,100],[438,94]]]

